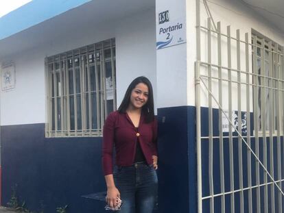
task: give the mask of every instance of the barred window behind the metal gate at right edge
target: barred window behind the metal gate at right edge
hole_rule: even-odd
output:
[[[257,47],[252,49],[252,66],[257,67],[257,127],[258,130],[269,132],[272,130],[274,134],[277,130],[281,130],[279,126],[279,118],[281,114],[277,112],[277,108],[282,108],[281,100],[278,94],[281,92],[281,70],[277,60],[280,60],[280,51],[276,53],[275,43],[272,41],[252,36],[252,44]],[[263,48],[264,47],[264,48]],[[256,50],[256,51],[255,51]],[[279,93],[280,92],[280,93]],[[282,121],[282,118],[281,118]],[[265,126],[265,129],[263,129]],[[281,130],[282,132],[282,130]]]

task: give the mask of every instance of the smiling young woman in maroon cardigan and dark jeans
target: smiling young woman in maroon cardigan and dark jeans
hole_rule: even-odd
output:
[[[120,213],[151,213],[154,208],[158,186],[156,137],[152,84],[147,77],[137,77],[128,86],[119,109],[106,118],[104,125],[106,201],[115,207],[117,198],[121,199]]]

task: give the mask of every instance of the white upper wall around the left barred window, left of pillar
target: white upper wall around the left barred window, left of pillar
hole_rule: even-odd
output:
[[[10,61],[15,64],[16,87],[8,92],[1,91],[1,125],[45,123],[45,57],[108,38],[116,39],[117,104],[132,79],[139,75],[149,77],[156,90],[154,17],[153,8],[100,25],[92,25],[90,20],[86,25],[62,32],[56,40],[47,38],[48,42],[36,48],[3,58],[0,64]]]

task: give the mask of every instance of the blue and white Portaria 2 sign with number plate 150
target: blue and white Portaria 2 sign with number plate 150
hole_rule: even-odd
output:
[[[186,42],[185,16],[174,16],[170,10],[165,10],[159,12],[156,19],[156,49]]]

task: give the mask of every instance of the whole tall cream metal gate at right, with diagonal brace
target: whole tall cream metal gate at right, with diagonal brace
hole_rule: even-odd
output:
[[[248,34],[245,34],[245,42],[241,41],[239,30],[237,30],[236,38],[230,37],[230,27],[227,27],[227,35],[221,33],[221,24],[217,23],[217,30],[211,29],[211,19],[207,20],[207,27],[200,26],[200,6],[199,1],[197,3],[197,60],[196,60],[196,146],[197,146],[197,162],[198,162],[198,212],[202,212],[202,201],[207,200],[210,201],[210,212],[214,212],[216,209],[215,205],[220,205],[220,212],[226,211],[225,206],[225,196],[230,196],[230,212],[235,212],[236,204],[235,204],[235,194],[239,193],[239,203],[238,208],[239,212],[282,212],[282,198],[283,191],[281,190],[281,181],[282,181],[282,171],[281,171],[281,160],[283,160],[281,153],[283,147],[281,147],[281,130],[284,130],[283,125],[283,112],[280,108],[281,105],[284,105],[284,81],[283,81],[283,49],[282,55],[278,55],[279,47],[278,45],[274,45],[272,42],[266,42],[265,40],[258,40],[257,36],[252,35],[252,45],[249,42]],[[200,51],[200,30],[205,29],[204,32],[207,34],[207,62],[202,62],[200,59],[201,51]],[[217,34],[217,64],[212,63],[212,43],[213,36],[212,34]],[[222,36],[227,38],[227,60],[228,67],[222,66]],[[237,53],[237,68],[232,68],[231,66],[231,40],[236,41],[236,53]],[[258,44],[259,41],[259,44]],[[241,49],[241,45],[244,44],[245,48],[245,71],[241,71],[241,53],[243,49]],[[250,50],[249,47],[252,46],[252,73],[250,73]],[[275,51],[276,48],[276,51]],[[258,54],[260,55],[258,56]],[[268,55],[268,57],[266,55]],[[279,57],[279,58],[278,58]],[[279,60],[279,62],[278,62]],[[281,62],[280,62],[281,61]],[[269,64],[269,66],[267,66]],[[276,66],[274,66],[276,64]],[[280,65],[281,64],[281,65]],[[200,66],[204,66],[207,68],[207,73],[202,72],[200,74]],[[281,70],[280,70],[281,68]],[[228,79],[226,79],[225,75],[223,76],[223,71],[228,71]],[[214,75],[214,72],[217,73]],[[237,80],[233,77],[232,73],[235,72],[237,75]],[[207,74],[207,75],[204,75]],[[244,76],[246,76],[246,80],[244,81]],[[250,76],[252,78],[250,78]],[[207,80],[208,86],[204,83],[204,80]],[[217,81],[215,81],[217,80]],[[243,82],[244,81],[244,82]],[[200,121],[200,83],[206,88],[206,94],[208,95],[208,127],[209,127],[209,135],[201,136],[201,121]],[[218,84],[215,84],[218,82]],[[222,103],[222,91],[224,90],[224,82],[228,82],[228,116],[224,112]],[[214,84],[213,84],[214,83]],[[237,121],[238,127],[235,129],[233,126],[233,118],[232,118],[232,93],[233,86],[237,92],[237,100],[235,103],[237,104]],[[218,87],[217,97],[213,94],[212,90],[214,86]],[[246,87],[245,87],[246,86]],[[216,87],[216,88],[217,88]],[[246,98],[243,98],[243,91],[246,89]],[[253,95],[253,98],[251,97]],[[213,103],[212,101],[217,103],[218,112],[219,112],[219,135],[213,135]],[[242,99],[242,100],[241,100]],[[242,101],[246,101],[246,113],[241,110]],[[253,103],[253,108],[251,109],[251,104]],[[281,103],[281,104],[280,104]],[[217,109],[216,109],[217,110]],[[254,115],[254,129],[255,131],[251,131],[250,124],[250,110],[253,110]],[[228,135],[223,133],[222,129],[222,114],[226,116],[230,125],[228,127]],[[246,115],[246,134],[242,132],[242,114]],[[237,132],[237,136],[233,136],[233,128]],[[275,137],[274,131],[277,130]],[[217,156],[215,154],[214,146],[217,146],[217,141],[215,144],[213,140],[219,140],[219,153]],[[224,140],[223,138],[228,138],[228,152],[229,152],[229,168],[230,168],[230,190],[225,191],[224,188]],[[235,188],[234,183],[234,150],[233,150],[233,139],[237,142],[237,151],[238,153],[238,170],[237,175],[239,176],[239,188]],[[251,138],[255,138],[255,150],[251,147]],[[202,154],[202,144],[203,142],[208,141],[209,149],[208,149],[208,175],[209,178],[206,184],[209,184],[209,196],[202,197],[202,162],[201,162],[201,154]],[[277,144],[277,154],[274,152],[274,140],[276,140]],[[253,141],[253,140],[252,140]],[[252,143],[253,144],[253,143]],[[246,145],[247,151],[243,155],[243,147]],[[261,146],[262,149],[259,149]],[[261,153],[260,153],[261,151]],[[268,153],[269,151],[269,153]],[[252,171],[252,155],[255,159],[255,171]],[[277,167],[276,167],[276,157],[277,155]],[[246,156],[246,161],[245,157]],[[220,179],[215,179],[213,177],[213,160],[219,157],[220,160]],[[243,162],[244,161],[244,162]],[[237,165],[235,162],[235,165]],[[244,165],[247,165],[246,168]],[[244,166],[244,167],[243,167]],[[268,171],[269,166],[269,171]],[[274,177],[274,171],[277,171],[277,177]],[[204,171],[205,173],[207,171]],[[247,179],[244,180],[244,175],[247,172]],[[252,172],[255,173],[255,181],[252,184]],[[244,173],[244,174],[243,174]],[[207,175],[207,174],[206,174]],[[268,177],[269,176],[269,177]],[[277,178],[277,179],[276,179]],[[276,181],[274,180],[276,179]],[[246,181],[248,186],[246,186]],[[215,184],[220,184],[220,193],[214,192]],[[253,186],[252,186],[253,185]],[[275,192],[275,188],[277,188],[278,193]],[[246,192],[246,194],[245,194]],[[246,196],[245,196],[246,195]],[[256,195],[256,199],[252,199],[252,195]],[[268,197],[270,195],[270,197]],[[278,195],[277,199],[276,196]],[[219,201],[215,199],[216,197],[220,198],[221,203],[216,203]],[[245,200],[246,199],[246,200]],[[252,201],[256,201],[256,205],[252,206]],[[277,201],[277,203],[276,203]],[[247,202],[247,203],[246,203]],[[248,205],[248,209],[245,209],[245,203]],[[205,205],[204,205],[205,206]],[[228,209],[228,208],[227,208]],[[278,210],[278,211],[277,211]]]

